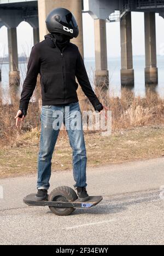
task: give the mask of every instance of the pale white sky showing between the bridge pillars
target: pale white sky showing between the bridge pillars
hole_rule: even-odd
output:
[[[164,19],[156,14],[157,54],[164,55]],[[120,56],[120,22],[107,22],[107,54],[108,58]],[[94,58],[94,24],[88,13],[83,14],[84,58]],[[144,55],[144,14],[132,13],[132,45],[133,55]],[[22,21],[17,27],[18,54],[30,55],[33,46],[32,27]],[[8,54],[7,28],[0,29],[0,56]]]

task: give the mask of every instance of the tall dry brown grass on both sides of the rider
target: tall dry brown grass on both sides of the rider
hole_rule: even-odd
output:
[[[36,91],[38,94],[38,86]],[[134,97],[130,90],[122,89],[121,98],[119,98],[109,96],[108,91],[98,87],[96,94],[99,100],[112,111],[113,132],[151,124],[163,124],[164,122],[164,100],[160,99],[154,92],[149,91],[145,98],[140,98],[139,96]],[[19,102],[18,100],[13,102],[12,105],[3,105],[0,102],[0,146],[17,147],[22,144],[38,143],[40,130],[39,100],[30,103],[28,115],[21,131],[15,128],[14,120]],[[93,108],[87,100],[81,109]],[[66,135],[66,133],[62,132],[62,135]]]

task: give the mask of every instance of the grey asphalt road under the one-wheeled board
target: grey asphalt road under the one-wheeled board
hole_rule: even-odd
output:
[[[36,176],[1,179],[0,244],[164,244],[164,158],[88,168],[87,183],[103,201],[58,217],[22,202]],[[71,171],[52,173],[51,189],[73,184]]]

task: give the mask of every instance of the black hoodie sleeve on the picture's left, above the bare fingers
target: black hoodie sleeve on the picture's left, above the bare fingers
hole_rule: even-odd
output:
[[[19,109],[25,112],[28,109],[28,103],[33,94],[37,83],[37,76],[40,71],[39,53],[37,47],[34,45],[31,50],[30,58],[27,65],[27,74],[23,84]]]

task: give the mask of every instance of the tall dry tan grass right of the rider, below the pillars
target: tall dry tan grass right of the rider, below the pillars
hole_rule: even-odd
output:
[[[97,88],[99,99],[112,111],[113,130],[164,122],[164,100],[151,90],[147,91],[145,98],[134,97],[126,88],[122,89],[121,98],[110,97],[99,91]]]

